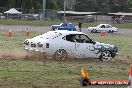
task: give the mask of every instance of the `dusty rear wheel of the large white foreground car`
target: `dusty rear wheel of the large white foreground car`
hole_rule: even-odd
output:
[[[67,58],[67,52],[64,49],[57,50],[53,55],[53,59],[57,61],[62,61],[66,58]]]

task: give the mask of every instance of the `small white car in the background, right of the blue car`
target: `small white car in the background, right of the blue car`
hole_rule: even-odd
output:
[[[100,24],[100,25],[98,25],[96,27],[88,27],[88,31],[91,31],[91,32],[102,32],[102,31],[105,31],[105,32],[108,32],[108,33],[113,33],[113,32],[117,32],[118,28],[112,27],[109,24]]]

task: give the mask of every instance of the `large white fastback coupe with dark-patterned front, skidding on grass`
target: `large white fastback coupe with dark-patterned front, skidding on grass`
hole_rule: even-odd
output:
[[[95,42],[83,32],[67,30],[49,31],[26,39],[24,45],[25,50],[43,52],[55,60],[99,58],[102,61],[109,61],[118,51],[115,45]]]

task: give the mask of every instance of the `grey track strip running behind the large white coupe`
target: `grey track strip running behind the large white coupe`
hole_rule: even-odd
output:
[[[3,31],[26,31],[27,28],[29,31],[42,31],[42,32],[47,32],[51,28],[49,26],[22,26],[22,25],[0,25],[0,30]],[[89,33],[87,31],[87,28],[82,28],[82,31],[85,33]],[[132,29],[119,29],[117,34],[126,34],[126,35],[132,35]]]

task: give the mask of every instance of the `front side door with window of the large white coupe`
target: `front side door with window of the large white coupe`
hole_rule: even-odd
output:
[[[74,54],[79,58],[96,57],[96,44],[85,34],[76,35]]]

